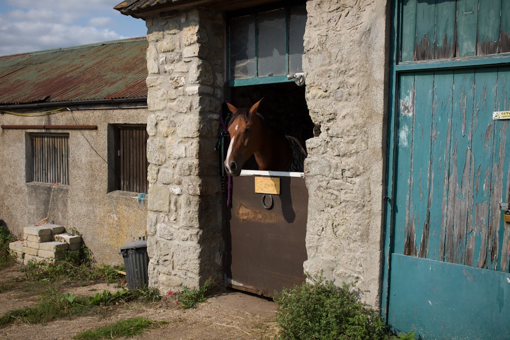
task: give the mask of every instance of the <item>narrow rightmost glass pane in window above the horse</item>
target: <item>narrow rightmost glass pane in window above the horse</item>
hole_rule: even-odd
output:
[[[306,6],[293,7],[289,24],[289,73],[302,72],[303,36],[307,24]]]

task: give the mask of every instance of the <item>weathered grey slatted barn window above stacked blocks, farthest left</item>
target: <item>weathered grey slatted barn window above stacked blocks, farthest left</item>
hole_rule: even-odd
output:
[[[69,185],[69,135],[30,134],[29,182]]]

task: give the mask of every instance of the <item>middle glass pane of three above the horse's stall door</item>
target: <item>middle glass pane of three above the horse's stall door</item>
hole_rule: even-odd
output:
[[[287,71],[285,10],[259,16],[259,76],[283,75]]]

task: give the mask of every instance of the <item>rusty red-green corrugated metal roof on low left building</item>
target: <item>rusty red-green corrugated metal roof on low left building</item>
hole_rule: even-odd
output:
[[[146,98],[145,37],[0,57],[0,105]]]

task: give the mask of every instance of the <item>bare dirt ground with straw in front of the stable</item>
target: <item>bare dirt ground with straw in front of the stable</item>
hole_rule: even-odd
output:
[[[12,290],[0,293],[0,313],[37,302],[38,296],[27,296],[27,292],[16,287],[21,287],[24,277],[18,269],[19,265],[0,270],[0,284],[14,286]],[[15,277],[20,280],[13,279]],[[62,293],[89,297],[104,290],[113,292],[116,288],[114,284],[107,283],[91,282],[87,286],[70,283],[63,287]],[[97,316],[0,328],[0,339],[71,339],[81,331],[139,316],[154,321],[164,320],[168,324],[130,339],[273,339],[277,332],[274,302],[236,291],[218,293],[191,309],[176,307],[169,297],[163,297],[154,304],[134,303],[105,308],[108,310]]]

